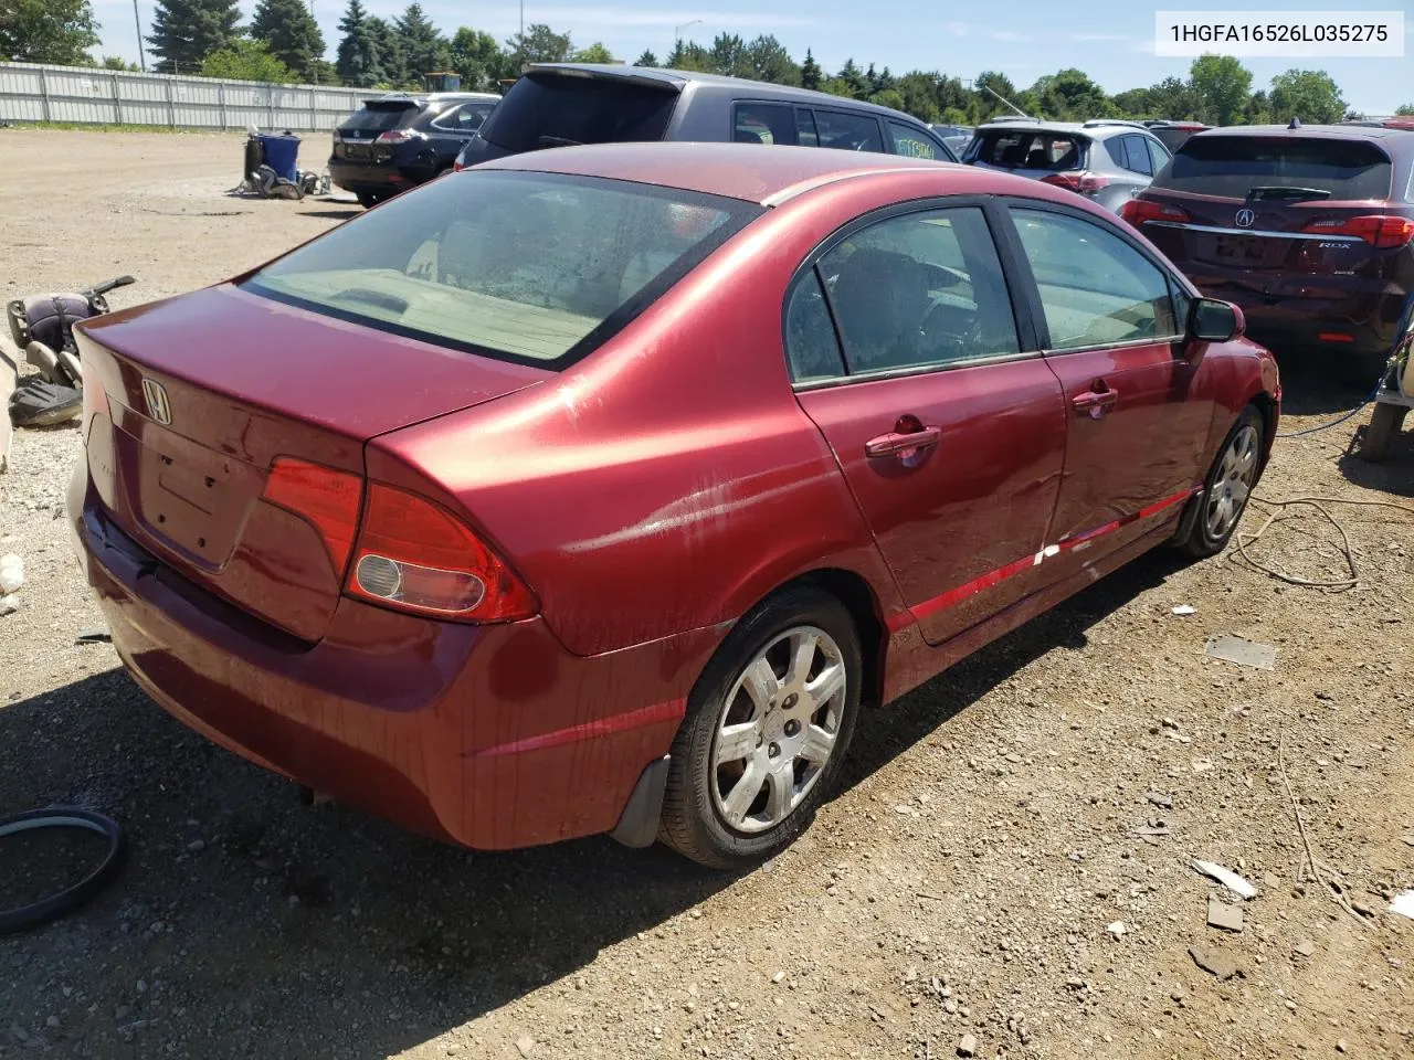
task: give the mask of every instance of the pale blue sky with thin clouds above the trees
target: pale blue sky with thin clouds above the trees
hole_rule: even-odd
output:
[[[363,0],[375,14],[397,14],[406,0]],[[338,44],[338,20],[345,0],[314,0],[314,14],[324,30],[329,54]],[[1360,6],[1372,10],[1398,10],[1408,0],[1373,0]],[[1243,0],[1249,10],[1340,10],[1336,0]],[[1349,0],[1346,0],[1349,7]],[[153,0],[139,0],[143,31],[153,17]],[[939,69],[971,78],[984,69],[1001,71],[1018,86],[1029,85],[1042,73],[1065,66],[1079,66],[1109,92],[1152,85],[1167,76],[1186,76],[1191,59],[1159,59],[1154,55],[1154,11],[1182,7],[1175,0],[1135,4],[1133,0],[1090,0],[1065,4],[1055,0],[1011,0],[997,4],[942,6],[928,0],[773,0],[754,7],[740,0],[682,6],[653,0],[612,0],[611,3],[536,3],[525,7],[526,24],[547,23],[573,34],[575,44],[602,41],[609,51],[629,61],[645,48],[659,57],[673,47],[676,25],[700,18],[701,24],[683,31],[683,37],[710,44],[718,33],[737,33],[745,38],[759,33],[775,34],[799,61],[809,47],[826,69],[836,69],[847,58],[860,65],[870,62],[889,66],[899,73],[908,69]],[[1191,10],[1212,10],[1216,4],[1191,3]],[[93,0],[102,21],[105,54],[137,58],[132,0]],[[243,0],[249,13],[255,0]],[[516,3],[454,3],[426,0],[423,8],[444,31],[474,25],[498,40],[513,34],[519,25]],[[1414,23],[1414,20],[1407,20]],[[1411,33],[1414,25],[1407,25]],[[1414,33],[1411,33],[1414,35]],[[1411,41],[1414,44],[1414,41]],[[1400,59],[1244,59],[1256,88],[1267,88],[1273,75],[1291,66],[1321,68],[1340,85],[1348,103],[1366,113],[1387,114],[1401,103],[1414,103],[1414,54]]]

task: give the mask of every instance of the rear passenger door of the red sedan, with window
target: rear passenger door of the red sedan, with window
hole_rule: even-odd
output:
[[[872,215],[792,287],[797,399],[834,451],[923,637],[1034,592],[1066,417],[1014,312],[990,206]]]

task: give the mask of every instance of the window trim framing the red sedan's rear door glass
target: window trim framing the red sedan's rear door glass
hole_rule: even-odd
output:
[[[909,365],[904,367],[880,369],[877,372],[851,373],[850,359],[844,352],[844,335],[840,331],[839,315],[834,311],[834,300],[830,297],[830,288],[824,283],[824,277],[820,274],[820,259],[855,232],[871,228],[880,222],[906,216],[909,213],[928,213],[939,209],[967,208],[981,209],[983,220],[991,233],[993,246],[997,249],[997,260],[1001,264],[1003,280],[1007,284],[1007,301],[1011,304],[1011,317],[1017,325],[1018,352],[988,353],[976,358],[950,360],[940,365]],[[820,240],[814,249],[805,256],[800,264],[796,266],[795,273],[790,276],[790,281],[786,284],[785,297],[781,300],[781,352],[785,359],[786,376],[790,377],[790,334],[788,331],[790,300],[795,297],[796,288],[803,281],[803,277],[813,276],[816,283],[820,284],[820,291],[824,297],[824,307],[830,315],[830,326],[834,332],[836,355],[844,366],[844,375],[803,382],[790,379],[790,389],[796,393],[805,393],[807,390],[824,390],[837,386],[850,386],[853,383],[875,383],[885,379],[935,375],[937,372],[954,372],[967,367],[987,367],[990,365],[1005,365],[1014,360],[1034,360],[1044,356],[1044,351],[1039,343],[1039,332],[1036,331],[1035,307],[1028,302],[1025,293],[1014,278],[1017,276],[1017,247],[1008,243],[1004,237],[1004,232],[1001,230],[1003,225],[1010,226],[1011,219],[1005,216],[1005,208],[993,195],[929,195],[919,199],[892,202],[887,206],[870,211],[868,213],[861,213]],[[1012,232],[1010,237],[1014,239],[1015,233]]]

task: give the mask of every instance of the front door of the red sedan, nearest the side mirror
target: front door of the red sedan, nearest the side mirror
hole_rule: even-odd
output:
[[[1080,211],[1014,201],[1010,213],[1065,397],[1065,478],[1046,541],[1070,554],[1056,561],[1070,574],[1178,516],[1213,407],[1193,393],[1167,270]]]

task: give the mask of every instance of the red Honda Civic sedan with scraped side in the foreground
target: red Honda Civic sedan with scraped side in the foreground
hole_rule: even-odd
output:
[[[1048,185],[617,144],[434,181],[81,328],[69,513],[215,742],[474,848],[788,844],[885,704],[1223,548],[1271,356]]]

